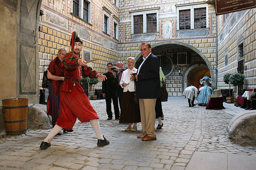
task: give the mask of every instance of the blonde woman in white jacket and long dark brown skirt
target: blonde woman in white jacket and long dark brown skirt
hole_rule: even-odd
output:
[[[141,122],[140,119],[140,106],[134,101],[135,84],[132,81],[131,73],[136,73],[137,69],[134,67],[135,59],[133,57],[127,58],[128,69],[122,74],[120,85],[124,88],[123,99],[121,104],[120,120],[119,123],[129,123],[125,131],[137,131],[137,123]],[[133,127],[131,128],[131,123]]]

